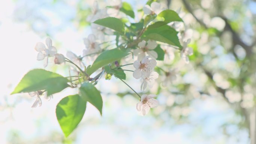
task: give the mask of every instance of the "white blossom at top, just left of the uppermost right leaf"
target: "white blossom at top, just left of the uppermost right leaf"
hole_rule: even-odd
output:
[[[149,5],[143,7],[143,11],[146,15],[155,15],[160,13],[164,8],[162,8],[161,4],[158,2],[153,2]]]

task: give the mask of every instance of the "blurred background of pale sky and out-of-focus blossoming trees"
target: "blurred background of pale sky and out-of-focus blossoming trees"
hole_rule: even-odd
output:
[[[141,10],[147,2],[126,1],[134,11]],[[15,0],[10,7],[13,10],[10,19],[17,25],[25,25],[25,31],[33,31],[42,38],[53,37],[59,46],[63,46],[61,40],[65,37],[70,40],[66,35],[76,35],[74,39],[81,43],[76,46],[82,47],[68,48],[72,46],[70,44],[64,48],[82,52],[82,38],[91,33],[86,17],[91,12],[92,2]],[[100,7],[108,4],[108,1],[98,2]],[[168,60],[168,63],[159,62],[159,67],[165,65],[180,70],[177,80],[162,88],[160,83],[164,80],[164,73],[156,69],[163,79],[159,78],[158,85],[150,91],[158,94],[159,107],[148,116],[137,116],[134,94],[115,79],[102,79],[99,88],[105,96],[103,117],[95,116],[92,110],[92,113],[85,115],[74,134],[64,138],[54,115],[56,102],[60,98],[55,98],[56,102],[43,103],[51,105],[48,108],[42,106],[39,110],[31,110],[29,105],[33,100],[29,96],[24,94],[10,98],[7,90],[0,101],[0,125],[5,125],[0,130],[4,134],[0,136],[3,143],[79,144],[110,140],[121,144],[256,144],[256,1],[158,2],[173,10],[181,7],[187,28],[185,34],[191,37],[189,46],[194,51],[188,65],[176,59],[179,53],[175,53],[173,56],[176,58]],[[135,12],[135,15],[134,21],[138,22],[138,13]],[[0,27],[3,26],[4,21],[1,20]],[[34,64],[30,67],[39,66]],[[58,68],[51,70],[58,71]],[[16,82],[6,81],[8,88],[6,85],[4,88],[11,91],[12,83]],[[140,87],[132,79],[129,83],[137,90]],[[34,116],[29,121],[23,119],[33,123],[29,125],[33,128],[17,126],[23,122],[19,121],[22,116],[17,116],[20,107],[26,107],[22,111],[28,111],[25,112],[27,116]]]

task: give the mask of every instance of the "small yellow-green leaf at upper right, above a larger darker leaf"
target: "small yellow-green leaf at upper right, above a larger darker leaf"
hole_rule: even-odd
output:
[[[182,18],[180,18],[178,13],[176,13],[175,11],[170,10],[170,9],[162,11],[161,13],[158,14],[158,16],[164,18],[165,23],[170,23],[173,21],[183,22]]]

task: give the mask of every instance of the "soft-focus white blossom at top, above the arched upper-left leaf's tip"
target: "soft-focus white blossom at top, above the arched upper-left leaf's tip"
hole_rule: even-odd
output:
[[[107,16],[107,9],[99,9],[98,1],[94,1],[91,15],[88,15],[86,21],[94,22],[97,19],[105,18]]]

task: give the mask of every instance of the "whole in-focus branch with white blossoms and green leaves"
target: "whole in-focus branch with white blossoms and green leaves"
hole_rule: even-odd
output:
[[[114,10],[116,17],[109,16],[107,9]],[[143,10],[138,10],[141,20],[132,23],[125,21],[135,18],[129,3],[120,1],[116,5],[99,9],[96,1],[92,14],[87,18],[87,21],[92,22],[94,34],[89,34],[84,39],[85,49],[82,55],[77,56],[70,51],[66,56],[57,53],[57,48],[52,45],[50,38],[46,39],[45,44],[38,42],[35,46],[38,61],[44,60],[45,67],[48,61],[69,65],[67,71],[70,76],[64,77],[51,71],[34,69],[25,74],[12,94],[27,92],[36,98],[32,107],[37,107],[42,105],[42,96],[51,99],[55,93],[67,87],[79,88],[76,95],[66,96],[56,107],[58,122],[67,137],[81,121],[87,102],[102,114],[101,92],[95,85],[103,76],[106,80],[115,77],[138,96],[139,102],[134,105],[138,113],[144,116],[150,108],[159,105],[157,96],[146,92],[139,95],[125,82],[126,74],[132,73],[135,79],[141,79],[141,91],[152,88],[159,75],[165,77],[162,86],[168,86],[176,79],[179,72],[177,68],[157,67],[157,63],[173,57],[174,52],[180,53],[180,59],[188,63],[188,56],[193,53],[192,49],[187,47],[190,40],[185,36],[185,24],[179,16],[179,11],[166,9],[160,3],[150,0]],[[110,37],[114,39],[111,40]],[[109,47],[111,42],[115,42],[115,48]],[[128,61],[133,63],[127,63]],[[134,68],[128,70],[125,68],[127,65],[133,65]],[[156,68],[160,73],[154,71]]]

